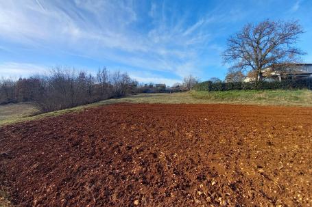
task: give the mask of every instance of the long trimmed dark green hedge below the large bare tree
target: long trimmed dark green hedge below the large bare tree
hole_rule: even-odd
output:
[[[285,80],[285,81],[259,81],[237,83],[212,83],[205,81],[193,87],[195,91],[229,91],[229,90],[266,90],[266,89],[312,89],[312,79]]]

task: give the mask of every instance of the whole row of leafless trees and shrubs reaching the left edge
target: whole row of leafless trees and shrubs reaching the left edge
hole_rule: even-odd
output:
[[[32,101],[42,112],[85,105],[134,92],[136,81],[128,74],[103,68],[96,76],[54,68],[48,75],[27,79],[2,79],[0,103]]]

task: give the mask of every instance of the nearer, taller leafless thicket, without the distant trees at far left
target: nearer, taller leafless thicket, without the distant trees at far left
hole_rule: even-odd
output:
[[[40,94],[34,102],[41,111],[47,112],[126,96],[136,87],[136,82],[128,74],[111,74],[105,68],[99,70],[95,78],[86,72],[76,73],[75,70],[58,67],[40,79],[40,85]]]

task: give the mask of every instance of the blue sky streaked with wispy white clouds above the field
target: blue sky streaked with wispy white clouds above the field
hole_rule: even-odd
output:
[[[228,36],[267,18],[300,20],[302,61],[312,63],[311,8],[311,0],[1,0],[0,77],[106,66],[145,83],[224,79]]]

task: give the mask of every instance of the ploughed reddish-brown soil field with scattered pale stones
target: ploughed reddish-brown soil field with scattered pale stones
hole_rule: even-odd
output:
[[[0,128],[19,206],[311,206],[312,109],[119,104]]]

